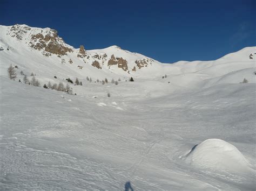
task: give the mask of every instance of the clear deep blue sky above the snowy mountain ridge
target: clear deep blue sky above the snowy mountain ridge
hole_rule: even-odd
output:
[[[0,24],[50,27],[74,47],[117,45],[161,62],[215,60],[255,46],[255,2],[0,0]]]

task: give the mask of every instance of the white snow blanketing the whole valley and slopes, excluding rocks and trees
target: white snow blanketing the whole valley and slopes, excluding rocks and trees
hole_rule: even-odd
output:
[[[154,61],[126,82],[116,68],[78,69],[75,51],[62,65],[0,27],[1,190],[255,190],[255,47],[215,61]],[[145,57],[115,46],[89,52],[105,51]],[[41,86],[66,77],[83,86],[70,84],[77,95],[29,86],[21,70]],[[122,81],[94,82],[105,77]]]

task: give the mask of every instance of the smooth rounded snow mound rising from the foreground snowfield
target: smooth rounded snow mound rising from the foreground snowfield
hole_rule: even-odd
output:
[[[238,172],[249,169],[244,155],[234,145],[221,139],[207,139],[192,148],[186,162],[193,166]]]

